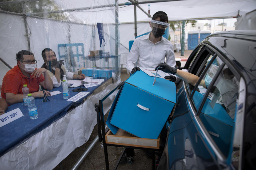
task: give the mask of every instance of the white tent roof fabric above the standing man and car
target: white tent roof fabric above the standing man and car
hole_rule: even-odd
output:
[[[127,1],[120,0],[118,3]],[[139,4],[144,11],[148,12],[148,4]],[[122,7],[122,6],[119,6]],[[186,0],[171,2],[150,3],[150,15],[157,11],[164,11],[171,20],[191,20],[200,18],[218,18],[237,16],[238,10],[252,11],[256,9],[255,0]],[[241,15],[241,13],[240,13]],[[137,8],[137,22],[149,21],[150,18]],[[119,8],[119,22],[134,22],[133,5]]]

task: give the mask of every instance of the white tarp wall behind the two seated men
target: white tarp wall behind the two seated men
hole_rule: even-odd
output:
[[[49,2],[49,0],[47,2]],[[25,6],[29,3],[33,4],[35,2],[26,2]],[[64,65],[66,69],[77,73],[78,67],[92,68],[92,61],[86,60],[79,65],[78,60],[81,61],[84,60],[84,58],[82,56],[79,58],[74,57],[72,58],[74,61],[71,62],[75,62],[75,65],[72,65],[70,58],[59,58],[58,44],[82,43],[84,49],[79,46],[78,53],[84,53],[85,58],[90,55],[91,50],[103,50],[103,52],[114,56],[116,53],[115,0],[86,2],[72,1],[72,4],[72,7],[78,6],[80,10],[68,11],[69,8],[67,7],[71,6],[64,1],[57,1],[57,5],[54,4],[55,7],[58,6],[58,8],[62,10],[58,13],[62,16],[62,18],[59,20],[54,20],[49,17],[49,15],[55,14],[51,13],[54,10],[43,14],[44,17],[37,17],[37,14],[26,14],[27,33],[25,27],[25,17],[11,12],[1,12],[0,57],[11,67],[14,67],[17,65],[17,61],[15,59],[16,53],[23,49],[28,50],[30,46],[30,51],[34,53],[35,60],[38,61],[37,67],[40,68],[44,63],[41,56],[42,50],[45,48],[51,48],[56,53],[57,60],[66,60]],[[76,6],[74,4],[76,4]],[[26,7],[28,6],[29,5]],[[102,6],[110,7],[102,8]],[[25,11],[31,10],[25,9]],[[38,15],[40,15],[40,13]],[[97,22],[103,23],[104,38],[106,42],[105,47],[100,47]],[[119,36],[117,36],[117,38],[118,37]],[[28,43],[27,39],[29,39],[30,43]],[[117,41],[118,40],[119,39],[117,39]],[[75,54],[76,47],[73,46],[72,48],[67,48],[66,53],[68,56],[70,53]],[[65,54],[64,47],[60,48],[60,55],[63,54]],[[103,69],[113,69],[115,68],[115,59],[100,59],[96,61],[96,65],[97,67]],[[1,85],[2,79],[9,68],[1,61],[0,67]],[[115,72],[113,71],[113,73]]]

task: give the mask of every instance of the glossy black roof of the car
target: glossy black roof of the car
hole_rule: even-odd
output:
[[[213,33],[202,43],[217,48],[245,78],[247,93],[256,95],[256,31],[234,30]]]

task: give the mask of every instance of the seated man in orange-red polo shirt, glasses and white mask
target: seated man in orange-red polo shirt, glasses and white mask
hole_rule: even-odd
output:
[[[37,61],[33,53],[21,50],[16,54],[16,60],[17,65],[9,70],[3,78],[1,97],[6,99],[8,105],[23,102],[23,84],[27,84],[29,93],[34,98],[43,97],[43,91],[38,91],[39,84],[47,90],[53,89],[53,82],[46,69],[36,68]],[[45,92],[47,96],[50,95],[49,91]]]

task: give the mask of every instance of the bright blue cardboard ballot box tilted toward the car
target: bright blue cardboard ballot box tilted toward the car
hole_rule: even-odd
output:
[[[153,86],[153,80],[137,71],[125,81],[113,114],[109,115],[113,133],[120,128],[137,137],[158,138],[176,103],[176,87],[162,78],[156,78]]]

